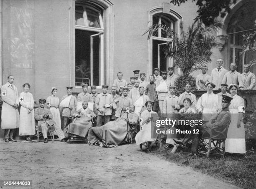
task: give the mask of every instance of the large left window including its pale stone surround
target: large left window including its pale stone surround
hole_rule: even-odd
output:
[[[113,4],[109,0],[70,3],[71,85],[101,86],[112,82]]]

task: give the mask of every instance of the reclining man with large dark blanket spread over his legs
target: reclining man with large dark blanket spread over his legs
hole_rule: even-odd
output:
[[[88,140],[91,145],[100,145],[100,147],[115,147],[125,139],[127,134],[127,124],[137,123],[138,115],[134,113],[135,107],[129,107],[129,113],[124,113],[121,118],[110,121],[100,127],[92,127],[88,134]],[[131,137],[131,135],[129,134]]]

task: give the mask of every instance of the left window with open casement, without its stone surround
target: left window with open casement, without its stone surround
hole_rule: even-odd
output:
[[[75,4],[75,86],[100,85],[104,60],[102,11],[91,3]]]

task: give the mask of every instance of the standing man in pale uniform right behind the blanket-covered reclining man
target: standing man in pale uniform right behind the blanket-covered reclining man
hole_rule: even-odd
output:
[[[129,109],[129,107],[133,104],[132,99],[128,97],[128,88],[123,89],[123,96],[119,99],[119,106],[115,111],[115,117],[122,117],[123,113]]]

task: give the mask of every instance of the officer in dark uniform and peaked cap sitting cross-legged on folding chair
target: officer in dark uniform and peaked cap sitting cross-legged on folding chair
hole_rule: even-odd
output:
[[[210,119],[207,123],[203,124],[202,126],[194,126],[191,127],[191,134],[187,134],[184,139],[182,140],[176,140],[174,139],[174,142],[177,143],[177,146],[181,146],[185,148],[188,141],[191,141],[192,139],[198,139],[193,140],[192,142],[192,154],[197,155],[197,147],[199,144],[199,139],[218,139],[218,140],[225,140],[227,129],[230,123],[230,111],[229,111],[229,105],[230,101],[233,99],[230,96],[222,95],[222,110],[217,113],[213,118]],[[198,130],[197,130],[198,129]],[[196,134],[193,132],[193,130],[198,131]],[[202,141],[202,143],[204,143]]]

